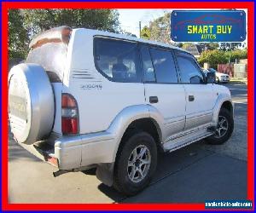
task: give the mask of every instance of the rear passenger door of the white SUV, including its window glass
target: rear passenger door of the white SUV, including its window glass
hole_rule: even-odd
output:
[[[163,141],[183,131],[185,124],[185,91],[178,83],[172,51],[141,46],[145,100],[164,118]]]

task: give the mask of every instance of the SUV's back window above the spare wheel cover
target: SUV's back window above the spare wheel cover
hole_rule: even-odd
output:
[[[59,82],[63,78],[67,53],[65,43],[45,43],[32,49],[26,59],[27,63],[37,63],[44,67],[50,82]]]

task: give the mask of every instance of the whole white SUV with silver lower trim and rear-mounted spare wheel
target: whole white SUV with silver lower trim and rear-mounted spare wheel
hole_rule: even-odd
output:
[[[232,134],[230,90],[183,49],[67,26],[30,48],[9,72],[9,123],[55,176],[96,167],[103,183],[132,195],[148,185],[158,151]]]

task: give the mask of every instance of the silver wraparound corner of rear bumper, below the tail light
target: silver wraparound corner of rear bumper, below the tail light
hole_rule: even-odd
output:
[[[58,158],[60,170],[113,163],[115,145],[114,136],[106,131],[65,136],[55,141],[55,158]]]

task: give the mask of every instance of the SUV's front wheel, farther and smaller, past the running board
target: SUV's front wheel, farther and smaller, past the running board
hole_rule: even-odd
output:
[[[222,123],[222,124],[221,124]],[[227,130],[224,130],[224,129]],[[218,126],[215,133],[209,137],[207,137],[207,142],[212,145],[223,144],[225,141],[230,139],[232,132],[234,130],[234,119],[230,112],[221,108],[218,114]]]

